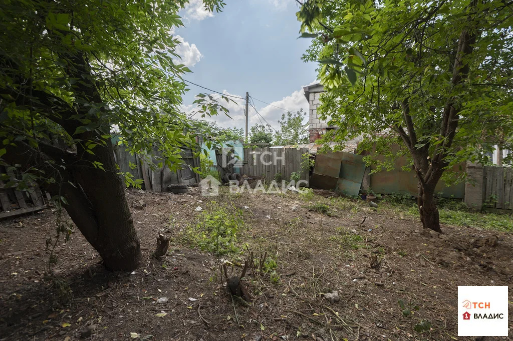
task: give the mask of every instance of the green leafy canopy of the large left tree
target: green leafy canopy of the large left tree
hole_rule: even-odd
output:
[[[2,2],[2,157],[21,164],[10,148],[37,151],[40,164],[29,165],[29,170],[52,184],[67,177],[68,164],[103,170],[105,163],[96,155],[110,143],[113,128],[120,145],[142,155],[156,149],[156,163],[172,169],[182,163],[182,148],[199,151],[196,137],[203,136],[204,125],[179,109],[188,91],[182,77],[190,70],[173,61],[180,58],[180,42],[169,33],[183,26],[177,13],[186,4]],[[215,11],[224,7],[216,0],[204,4]],[[199,94],[195,111],[201,116],[226,114],[221,104],[229,101],[223,95]],[[48,147],[51,141],[61,151]],[[38,174],[42,169],[45,174]],[[125,181],[137,185],[127,177]]]

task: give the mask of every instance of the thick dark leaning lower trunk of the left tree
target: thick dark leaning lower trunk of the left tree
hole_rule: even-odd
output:
[[[40,186],[52,196],[65,198],[63,207],[91,246],[100,253],[109,270],[133,270],[141,261],[139,238],[125,196],[125,186],[114,166],[112,144],[94,148],[90,160],[103,164],[94,168],[91,161],[77,160],[74,153],[39,144],[35,150],[24,142],[4,146],[4,159],[19,164],[22,170],[44,172]],[[61,163],[58,163],[61,161]],[[39,174],[39,173],[36,173]]]

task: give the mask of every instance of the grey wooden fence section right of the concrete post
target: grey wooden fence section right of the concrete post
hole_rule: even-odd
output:
[[[513,168],[484,167],[483,203],[486,207],[513,210]]]

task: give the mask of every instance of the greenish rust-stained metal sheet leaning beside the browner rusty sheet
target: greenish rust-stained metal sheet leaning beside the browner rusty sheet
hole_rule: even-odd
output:
[[[362,155],[342,153],[337,190],[346,195],[360,194],[364,173],[365,162]]]

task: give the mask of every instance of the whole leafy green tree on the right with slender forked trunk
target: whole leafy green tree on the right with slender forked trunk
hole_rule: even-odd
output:
[[[360,149],[400,143],[419,182],[424,228],[441,231],[435,186],[447,170],[511,149],[511,3],[498,0],[307,0],[298,12],[307,61],[327,88],[319,113]],[[310,32],[310,33],[309,33]]]

